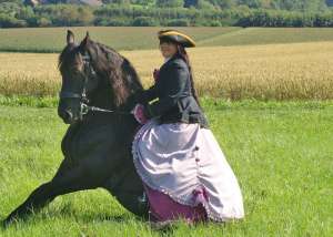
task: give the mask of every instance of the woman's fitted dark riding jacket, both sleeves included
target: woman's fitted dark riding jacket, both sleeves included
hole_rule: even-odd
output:
[[[151,102],[152,100],[157,101]],[[138,95],[148,118],[159,116],[160,123],[199,123],[209,127],[208,120],[191,92],[189,66],[174,54],[160,69],[159,79]]]

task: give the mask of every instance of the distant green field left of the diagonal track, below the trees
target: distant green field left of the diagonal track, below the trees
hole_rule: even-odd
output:
[[[29,28],[0,29],[0,51],[13,52],[59,52],[63,48],[67,30],[71,29],[78,39],[89,31],[92,39],[115,50],[155,49],[159,41],[155,27],[92,27],[92,28]],[[192,35],[198,42],[240,28],[174,28]]]

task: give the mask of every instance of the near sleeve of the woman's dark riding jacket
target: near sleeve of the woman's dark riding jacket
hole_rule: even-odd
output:
[[[188,76],[189,71],[185,64],[172,63],[169,69],[169,86],[161,89],[163,90],[163,96],[161,96],[159,101],[145,105],[145,115],[148,117],[161,116],[172,109],[185,89]]]

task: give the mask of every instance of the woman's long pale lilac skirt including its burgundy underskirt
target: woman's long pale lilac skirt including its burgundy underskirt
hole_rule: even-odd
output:
[[[152,118],[135,134],[132,153],[155,221],[244,217],[238,179],[209,128]]]

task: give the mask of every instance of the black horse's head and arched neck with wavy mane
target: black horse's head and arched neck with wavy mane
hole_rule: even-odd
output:
[[[115,110],[125,105],[130,95],[143,90],[129,60],[92,41],[88,33],[80,44],[75,44],[74,34],[68,31],[59,69],[62,86],[58,114],[69,124],[83,118],[85,104]]]

